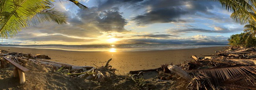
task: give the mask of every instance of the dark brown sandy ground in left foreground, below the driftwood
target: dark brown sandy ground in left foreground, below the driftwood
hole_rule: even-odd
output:
[[[55,72],[45,66],[28,62],[29,72],[25,73],[25,84],[19,84],[19,79],[13,77],[13,68],[0,68],[0,89],[161,89],[162,83],[147,83],[140,87],[129,76],[112,75],[103,81],[92,81],[83,78],[72,78]]]

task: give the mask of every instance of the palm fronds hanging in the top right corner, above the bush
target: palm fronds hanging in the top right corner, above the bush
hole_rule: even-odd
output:
[[[228,11],[232,11],[230,17],[239,24],[245,25],[246,28],[244,38],[248,41],[249,38],[255,39],[256,25],[256,1],[255,0],[215,0],[219,1]],[[247,36],[247,37],[246,37]]]

